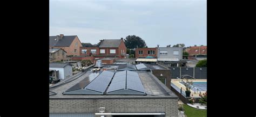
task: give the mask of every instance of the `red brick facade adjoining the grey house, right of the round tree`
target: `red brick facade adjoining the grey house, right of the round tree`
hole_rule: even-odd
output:
[[[154,50],[154,54],[148,54],[149,50]],[[139,51],[142,51],[142,54],[139,54]],[[146,57],[146,56],[155,56],[157,57],[157,48],[136,48],[135,57]]]

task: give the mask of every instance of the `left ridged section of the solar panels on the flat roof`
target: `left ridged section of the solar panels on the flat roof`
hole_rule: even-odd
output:
[[[107,86],[109,85],[114,72],[103,71],[89,84],[81,81],[76,85],[72,86],[63,94],[104,94]]]

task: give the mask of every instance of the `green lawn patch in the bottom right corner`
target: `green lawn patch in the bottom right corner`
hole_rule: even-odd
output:
[[[202,110],[202,109],[197,109],[197,108],[193,108],[187,105],[183,105],[184,109],[185,109],[185,114],[187,115],[187,117],[206,117],[206,110]]]

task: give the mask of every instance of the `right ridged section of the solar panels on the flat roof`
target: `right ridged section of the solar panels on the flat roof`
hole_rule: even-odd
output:
[[[134,71],[117,72],[106,94],[146,95],[142,81]]]

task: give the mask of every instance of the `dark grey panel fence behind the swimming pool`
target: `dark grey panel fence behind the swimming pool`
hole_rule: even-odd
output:
[[[190,75],[197,79],[207,79],[207,67],[170,67],[170,69],[172,79],[181,78],[181,75]]]

